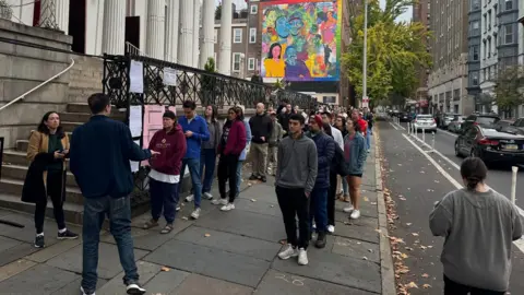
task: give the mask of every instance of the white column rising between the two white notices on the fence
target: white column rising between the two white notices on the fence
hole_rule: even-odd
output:
[[[166,37],[165,3],[165,0],[147,0],[146,55],[156,59],[164,59],[164,40]]]

